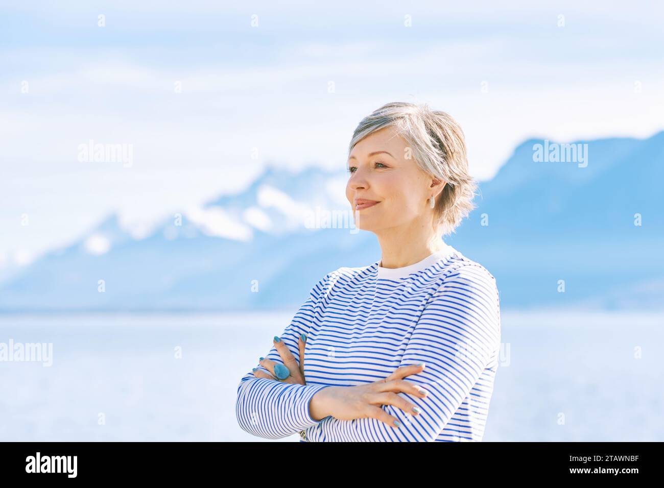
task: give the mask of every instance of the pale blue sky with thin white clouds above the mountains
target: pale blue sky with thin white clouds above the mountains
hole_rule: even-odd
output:
[[[266,164],[343,171],[386,102],[457,118],[479,179],[528,137],[664,128],[664,7],[537,4],[2,2],[0,272],[113,211],[139,234]],[[90,139],[133,164],[78,161]]]

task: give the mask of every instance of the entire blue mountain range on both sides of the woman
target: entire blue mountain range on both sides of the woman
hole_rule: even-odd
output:
[[[496,277],[503,307],[662,307],[664,132],[575,143],[583,163],[519,145],[446,242]],[[380,260],[346,179],[268,167],[139,239],[109,216],[0,284],[0,310],[292,309],[328,272]]]

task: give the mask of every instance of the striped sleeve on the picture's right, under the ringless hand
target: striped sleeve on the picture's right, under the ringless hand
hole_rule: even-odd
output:
[[[337,420],[331,416],[307,431],[307,438],[323,442],[432,442],[471,396],[483,404],[478,380],[500,347],[500,305],[495,278],[477,264],[464,265],[444,277],[426,301],[400,366],[426,363],[420,374],[406,376],[428,390],[426,398],[399,393],[419,406],[418,415],[384,405],[402,424],[393,428],[374,418]],[[485,407],[488,408],[488,402]],[[462,432],[463,426],[452,427]],[[463,434],[461,434],[463,435]]]

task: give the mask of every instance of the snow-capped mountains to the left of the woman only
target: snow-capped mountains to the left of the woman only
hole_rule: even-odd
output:
[[[242,193],[174,214],[139,240],[109,216],[1,284],[0,309],[289,307],[327,272],[380,258],[354,228],[344,178],[268,167]]]

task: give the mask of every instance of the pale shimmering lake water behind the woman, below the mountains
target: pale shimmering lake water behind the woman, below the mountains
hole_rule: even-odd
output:
[[[52,343],[51,366],[0,361],[0,440],[264,441],[236,388],[292,315],[0,315],[0,343]],[[664,441],[663,325],[503,311],[484,441]]]

